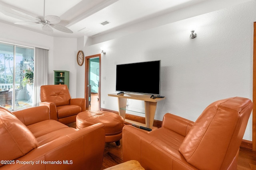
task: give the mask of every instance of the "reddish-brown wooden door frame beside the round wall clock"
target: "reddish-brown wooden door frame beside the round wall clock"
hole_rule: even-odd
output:
[[[88,98],[89,98],[89,96],[88,96],[88,91],[87,91],[87,85],[89,84],[89,79],[88,79],[88,74],[89,74],[89,60],[90,59],[92,59],[92,58],[97,58],[97,57],[99,57],[99,80],[100,80],[100,70],[101,70],[101,55],[100,54],[96,54],[96,55],[90,55],[90,56],[86,56],[86,57],[84,57],[84,59],[85,59],[85,82],[84,82],[84,84],[85,84],[85,86],[84,86],[84,98],[86,98],[86,106],[87,106],[87,102],[88,102]],[[98,91],[98,96],[99,96],[99,108],[98,109],[100,109],[100,81],[99,81],[99,84],[98,84],[98,86],[99,86],[99,91]]]

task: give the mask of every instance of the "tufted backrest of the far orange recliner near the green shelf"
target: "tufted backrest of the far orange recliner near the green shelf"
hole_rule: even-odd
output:
[[[54,102],[56,106],[70,104],[71,96],[66,84],[41,86],[41,102]]]

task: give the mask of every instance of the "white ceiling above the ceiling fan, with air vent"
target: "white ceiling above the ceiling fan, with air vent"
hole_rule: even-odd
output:
[[[55,15],[61,18],[59,25],[74,33],[54,29],[51,36],[91,37],[204,1],[207,0],[0,0],[0,22],[16,25],[15,22],[32,21],[37,16]],[[233,1],[237,3],[239,0]],[[11,9],[21,13],[13,14]],[[103,21],[110,23],[101,25]],[[16,26],[45,33],[41,24]]]

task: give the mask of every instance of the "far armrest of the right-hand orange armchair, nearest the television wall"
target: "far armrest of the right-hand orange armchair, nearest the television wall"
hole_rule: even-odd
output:
[[[188,134],[193,124],[193,121],[171,113],[166,113],[162,121],[162,127],[179,133],[182,136],[186,136]]]

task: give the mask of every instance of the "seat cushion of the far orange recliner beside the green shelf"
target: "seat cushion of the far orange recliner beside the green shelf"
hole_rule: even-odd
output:
[[[65,106],[57,107],[58,118],[77,115],[81,111],[82,111],[82,108],[78,105],[65,105]]]

